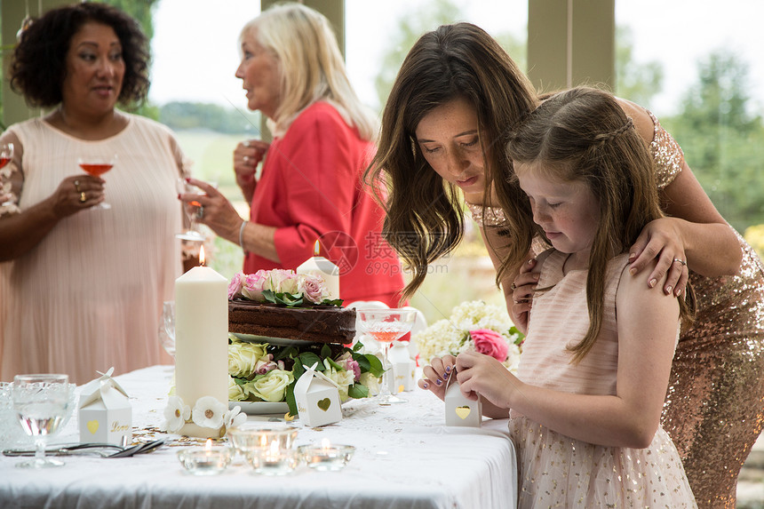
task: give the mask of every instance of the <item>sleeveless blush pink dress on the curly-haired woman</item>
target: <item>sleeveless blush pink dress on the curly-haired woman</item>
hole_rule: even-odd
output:
[[[129,115],[99,141],[77,139],[40,118],[12,125],[20,167],[0,171],[0,220],[52,195],[62,179],[84,174],[77,158],[116,154],[104,174],[111,210],[61,219],[20,258],[0,263],[0,379],[67,373],[83,384],[97,370],[115,375],[171,363],[157,338],[163,300],[181,274],[181,209],[175,181],[190,164],[169,129]]]

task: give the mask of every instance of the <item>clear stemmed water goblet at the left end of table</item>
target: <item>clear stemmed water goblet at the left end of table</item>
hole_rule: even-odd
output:
[[[35,438],[35,457],[17,463],[21,468],[46,468],[64,465],[63,461],[45,457],[48,438],[56,433],[67,417],[69,408],[67,375],[16,375],[11,399],[21,427]]]

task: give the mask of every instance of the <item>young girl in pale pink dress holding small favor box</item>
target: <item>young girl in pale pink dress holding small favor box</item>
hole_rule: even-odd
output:
[[[659,425],[692,291],[650,291],[650,270],[626,277],[629,246],[661,217],[648,147],[612,96],[578,88],[516,126],[507,153],[535,234],[553,246],[534,269],[518,375],[467,352],[434,359],[419,385],[442,397],[456,368],[485,415],[509,415],[521,508],[696,507]],[[533,235],[513,242],[529,248]]]

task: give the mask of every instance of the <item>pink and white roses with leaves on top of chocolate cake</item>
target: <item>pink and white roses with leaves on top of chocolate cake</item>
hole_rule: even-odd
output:
[[[255,274],[235,274],[228,284],[228,300],[243,298],[281,306],[341,306],[330,299],[326,282],[319,275],[295,274],[292,270],[260,269]]]

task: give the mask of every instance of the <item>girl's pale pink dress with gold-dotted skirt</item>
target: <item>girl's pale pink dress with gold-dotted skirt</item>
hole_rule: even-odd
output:
[[[589,328],[586,270],[562,273],[566,253],[546,258],[534,297],[518,378],[571,394],[616,394],[616,292],[628,255],[608,267],[600,335],[578,364],[569,342]],[[605,447],[554,432],[516,412],[509,430],[517,448],[520,509],[542,507],[696,507],[677,449],[658,428],[646,449]]]

